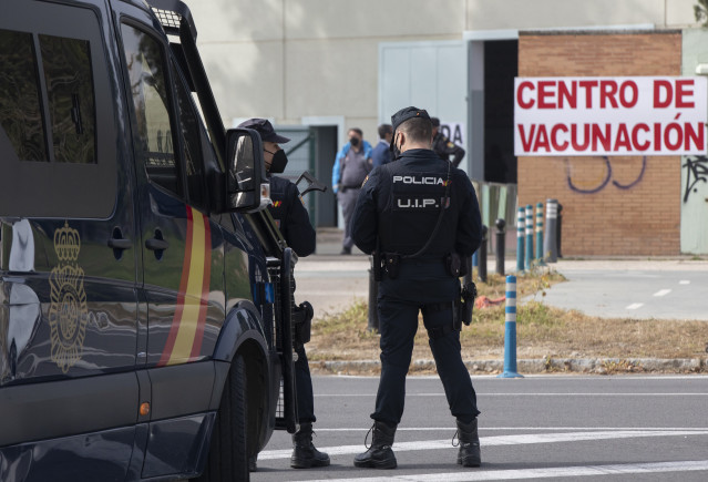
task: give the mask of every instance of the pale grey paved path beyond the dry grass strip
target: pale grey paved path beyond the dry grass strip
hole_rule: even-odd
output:
[[[494,271],[494,263],[488,260],[488,273]],[[568,279],[546,290],[543,301],[551,306],[604,318],[708,321],[708,261],[561,259],[550,267]],[[368,269],[369,258],[361,254],[302,258],[295,270],[296,298],[312,304],[316,320],[346,309],[357,299],[366,301]],[[506,274],[514,269],[515,263],[507,259]],[[541,299],[538,295],[536,299]]]

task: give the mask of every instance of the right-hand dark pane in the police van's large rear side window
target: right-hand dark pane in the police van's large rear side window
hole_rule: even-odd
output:
[[[54,161],[94,164],[95,107],[86,40],[39,35]]]

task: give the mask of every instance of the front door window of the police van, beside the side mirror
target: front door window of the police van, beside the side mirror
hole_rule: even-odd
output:
[[[157,40],[135,27],[123,24],[121,32],[135,113],[136,155],[151,182],[182,197],[163,51]]]

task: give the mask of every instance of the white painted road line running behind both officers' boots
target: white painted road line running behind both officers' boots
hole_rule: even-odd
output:
[[[708,430],[618,430],[601,432],[570,432],[570,433],[527,433],[521,435],[480,437],[482,448],[494,445],[523,445],[535,443],[579,442],[613,439],[635,439],[646,437],[679,437],[679,435],[708,435]],[[417,442],[400,442],[393,445],[396,452],[417,450],[452,449],[451,439],[423,440]],[[330,455],[349,455],[363,452],[363,445],[337,445],[319,448]],[[264,450],[258,454],[258,460],[289,459],[293,449]]]

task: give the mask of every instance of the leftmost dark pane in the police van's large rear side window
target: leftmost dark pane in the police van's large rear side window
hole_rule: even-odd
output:
[[[18,158],[49,161],[32,45],[31,33],[0,30],[0,125]]]

